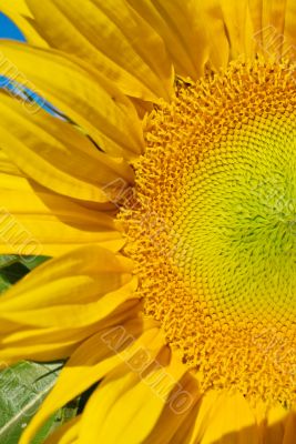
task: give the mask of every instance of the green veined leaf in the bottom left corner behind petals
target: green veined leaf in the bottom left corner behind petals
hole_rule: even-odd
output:
[[[21,362],[0,372],[0,443],[16,444],[23,428],[53,387],[61,363]],[[45,424],[34,444],[41,444],[55,416]],[[42,441],[37,441],[37,440]]]

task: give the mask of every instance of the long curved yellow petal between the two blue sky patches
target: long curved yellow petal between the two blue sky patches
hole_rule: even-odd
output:
[[[81,68],[82,62],[79,65],[58,51],[16,42],[1,42],[0,51],[0,74],[44,97],[103,151],[115,157],[141,152],[143,132],[134,107],[91,65]]]

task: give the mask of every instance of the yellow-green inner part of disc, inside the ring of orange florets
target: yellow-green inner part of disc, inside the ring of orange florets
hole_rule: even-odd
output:
[[[295,316],[296,127],[257,117],[201,153],[174,221],[174,262],[225,321]]]

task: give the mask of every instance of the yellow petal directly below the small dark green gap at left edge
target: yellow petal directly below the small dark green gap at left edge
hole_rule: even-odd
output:
[[[132,262],[89,245],[53,259],[9,289],[1,317],[21,325],[84,326],[108,316],[133,296]]]

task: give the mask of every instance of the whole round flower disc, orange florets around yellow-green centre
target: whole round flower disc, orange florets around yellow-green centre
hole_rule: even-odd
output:
[[[296,401],[296,77],[235,63],[149,117],[122,219],[146,315],[203,390]]]

